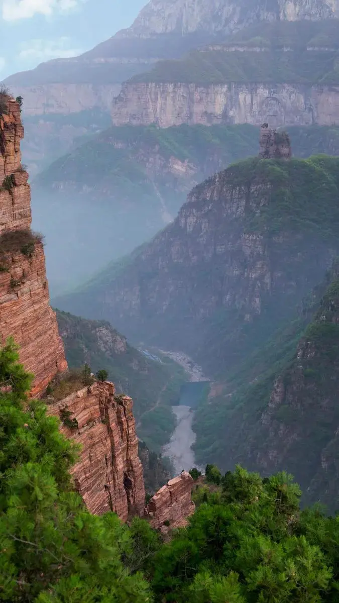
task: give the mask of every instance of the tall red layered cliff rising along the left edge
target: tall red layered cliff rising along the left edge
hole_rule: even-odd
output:
[[[34,373],[32,396],[39,396],[49,380],[67,369],[55,313],[49,306],[43,245],[15,243],[15,233],[30,230],[28,174],[21,169],[20,140],[24,136],[19,105],[2,98],[0,116],[0,334],[1,343],[13,336],[25,368]],[[5,185],[5,188],[4,188]]]

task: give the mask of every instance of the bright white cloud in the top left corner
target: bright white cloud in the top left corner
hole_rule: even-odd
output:
[[[85,0],[0,0],[2,18],[5,21],[31,19],[36,14],[50,17],[54,13],[65,13],[77,8]]]

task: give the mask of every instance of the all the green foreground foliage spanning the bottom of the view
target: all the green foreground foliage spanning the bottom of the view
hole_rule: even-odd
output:
[[[189,525],[160,544],[135,518],[91,516],[72,491],[77,450],[27,400],[31,376],[0,350],[0,600],[35,603],[338,601],[339,519],[300,511],[300,489],[209,466]],[[215,479],[217,478],[217,479]]]

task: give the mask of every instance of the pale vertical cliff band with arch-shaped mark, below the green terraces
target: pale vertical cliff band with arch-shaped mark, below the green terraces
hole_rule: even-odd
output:
[[[114,125],[333,125],[339,123],[337,86],[271,83],[135,82],[113,100]],[[273,122],[274,121],[274,122]]]

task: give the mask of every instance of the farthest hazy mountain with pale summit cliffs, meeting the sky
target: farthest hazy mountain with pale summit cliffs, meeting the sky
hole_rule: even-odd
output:
[[[5,80],[13,95],[24,97],[27,121],[24,161],[36,174],[71,148],[73,140],[98,129],[109,116],[121,83],[149,71],[158,60],[178,59],[192,49],[223,42],[227,36],[264,22],[333,19],[338,0],[161,0],[149,2],[127,30],[75,58],[55,59]],[[169,76],[166,76],[169,77]],[[88,123],[89,112],[93,116]],[[55,116],[78,114],[60,128]],[[98,115],[99,119],[96,117]],[[99,126],[100,128],[100,126]],[[37,130],[39,133],[37,133]],[[54,142],[53,142],[54,141]]]

